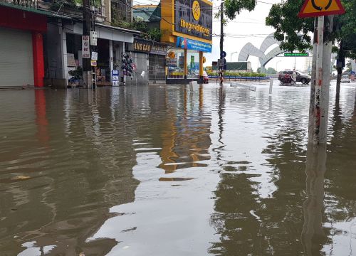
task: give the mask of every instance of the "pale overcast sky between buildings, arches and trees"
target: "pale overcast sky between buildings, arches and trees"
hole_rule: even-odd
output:
[[[157,0],[137,0],[141,3],[147,4],[157,4]],[[218,11],[217,7],[220,6],[221,0],[213,0],[214,10],[213,14]],[[262,1],[262,2],[261,2]],[[231,53],[232,61],[237,61],[239,58],[239,53],[241,48],[244,47],[246,43],[252,43],[257,48],[260,48],[261,43],[266,36],[274,32],[274,29],[270,26],[265,25],[266,16],[268,16],[269,10],[272,4],[281,2],[281,0],[261,0],[257,2],[256,9],[254,11],[242,11],[239,16],[236,17],[234,21],[229,21],[227,26],[224,27],[224,34],[226,38],[224,39],[224,51],[226,51],[226,60],[230,61]],[[264,4],[270,3],[270,4]],[[134,1],[134,4],[137,2]],[[218,20],[213,21],[213,34],[220,35],[220,22]],[[232,37],[234,36],[234,37]],[[213,37],[213,50],[212,53],[204,53],[206,56],[205,65],[211,65],[211,61],[217,60],[219,58],[220,51],[220,38]],[[271,47],[274,48],[274,47]],[[271,49],[268,49],[268,51]],[[252,68],[254,71],[259,67],[258,58],[250,56],[248,61],[251,61]],[[274,68],[278,71],[285,69],[293,69],[294,61],[296,61],[297,70],[304,70],[305,58],[293,58],[293,57],[278,57],[273,58],[267,65],[266,68]]]

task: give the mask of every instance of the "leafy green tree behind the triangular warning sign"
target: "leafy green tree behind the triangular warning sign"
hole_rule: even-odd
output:
[[[314,30],[313,18],[298,18],[304,0],[287,0],[281,4],[273,4],[266,25],[276,28],[274,37],[281,41],[281,49],[304,51],[311,48],[308,33]],[[337,59],[345,63],[345,57],[356,56],[356,1],[342,1],[346,14],[335,16],[332,39],[337,46]],[[337,67],[337,95],[340,90],[342,67]]]

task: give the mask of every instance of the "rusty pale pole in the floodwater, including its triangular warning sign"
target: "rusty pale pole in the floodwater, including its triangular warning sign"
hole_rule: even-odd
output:
[[[314,145],[327,142],[333,14],[344,13],[340,0],[331,0],[326,6],[318,6],[313,0],[305,0],[298,14],[299,18],[318,17],[314,22],[308,130],[308,143]]]

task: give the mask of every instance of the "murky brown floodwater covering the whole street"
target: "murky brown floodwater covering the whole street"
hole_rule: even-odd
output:
[[[0,255],[356,255],[356,85],[0,92]]]

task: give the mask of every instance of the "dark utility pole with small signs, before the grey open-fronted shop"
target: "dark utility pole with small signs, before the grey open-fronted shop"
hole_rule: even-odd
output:
[[[90,0],[83,0],[83,36],[90,36],[90,28],[91,28],[90,20],[91,20]],[[90,51],[90,56],[91,56],[91,51]],[[91,88],[93,86],[90,58],[83,58],[83,80],[84,80],[85,88]]]

